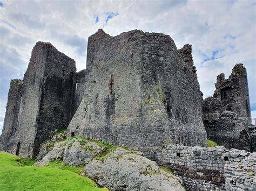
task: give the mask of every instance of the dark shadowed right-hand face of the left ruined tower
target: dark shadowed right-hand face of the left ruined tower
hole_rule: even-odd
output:
[[[45,43],[45,70],[37,116],[37,134],[33,154],[49,138],[51,131],[68,127],[76,74],[75,61]]]

